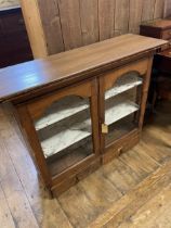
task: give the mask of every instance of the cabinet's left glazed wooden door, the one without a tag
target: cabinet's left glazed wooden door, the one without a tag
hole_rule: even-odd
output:
[[[97,86],[90,80],[27,104],[35,154],[51,178],[90,163],[98,153]],[[29,135],[27,130],[27,135]],[[31,139],[30,139],[31,140]],[[40,147],[39,147],[40,145]],[[43,167],[42,167],[43,166]]]

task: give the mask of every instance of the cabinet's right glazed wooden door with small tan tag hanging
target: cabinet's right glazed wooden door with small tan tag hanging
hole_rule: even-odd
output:
[[[102,150],[140,128],[148,60],[104,75],[100,81]]]

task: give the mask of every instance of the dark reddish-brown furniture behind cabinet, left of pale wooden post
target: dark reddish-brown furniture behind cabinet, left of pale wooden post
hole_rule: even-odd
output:
[[[0,67],[32,60],[21,8],[0,10]]]

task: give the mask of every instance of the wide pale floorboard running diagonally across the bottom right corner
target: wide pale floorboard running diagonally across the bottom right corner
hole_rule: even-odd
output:
[[[141,206],[144,206],[145,203],[161,192],[171,182],[170,167],[171,161],[159,167],[140,185],[117,201],[117,203],[113,204],[109,210],[92,223],[90,227],[116,228],[120,227],[126,221],[130,221],[131,217]]]

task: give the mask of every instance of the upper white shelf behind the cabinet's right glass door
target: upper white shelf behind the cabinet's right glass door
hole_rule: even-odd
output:
[[[106,91],[105,100],[115,97],[117,94],[120,94],[121,92],[124,92],[129,89],[137,87],[142,85],[142,83],[143,83],[142,78],[137,77],[137,75],[135,74],[129,74],[124,77],[121,77],[117,80],[115,87]]]

